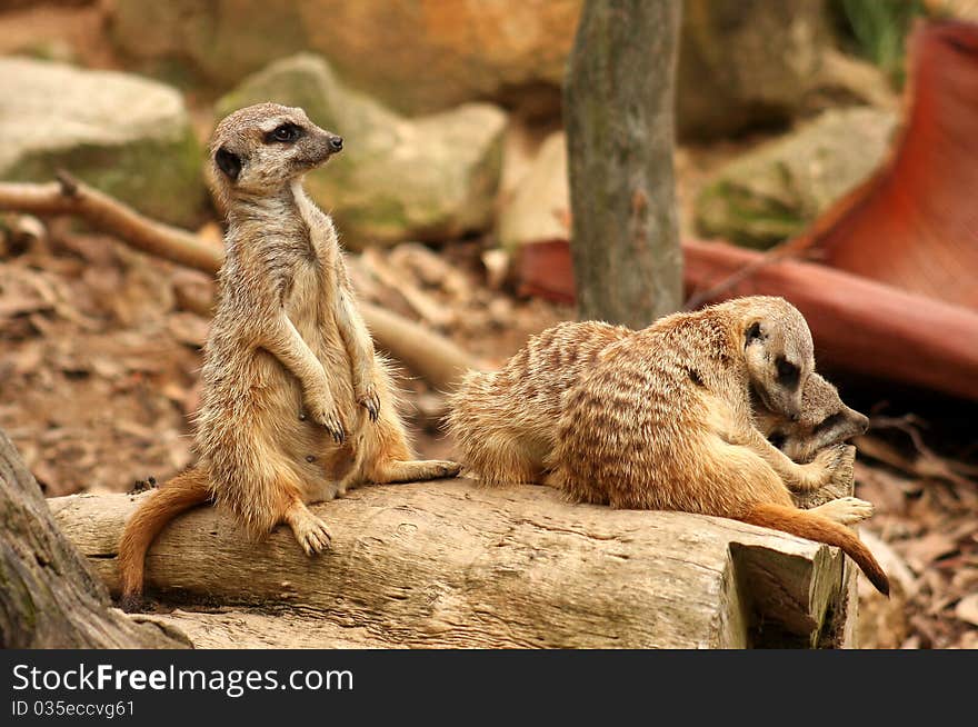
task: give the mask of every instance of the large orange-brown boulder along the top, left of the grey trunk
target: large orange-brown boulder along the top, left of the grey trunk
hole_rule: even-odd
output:
[[[581,0],[116,0],[110,37],[131,63],[182,66],[207,89],[300,51],[407,113],[476,99],[559,113]]]

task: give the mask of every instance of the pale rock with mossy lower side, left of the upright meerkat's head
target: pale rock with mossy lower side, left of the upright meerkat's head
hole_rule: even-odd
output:
[[[0,58],[0,179],[58,169],[157,219],[199,223],[201,150],[176,90],[111,71]]]

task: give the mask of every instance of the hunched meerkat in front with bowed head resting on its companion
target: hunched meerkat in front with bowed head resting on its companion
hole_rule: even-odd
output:
[[[751,396],[797,419],[814,369],[805,318],[781,298],[740,298],[677,313],[611,343],[567,392],[548,484],[578,501],[732,518],[840,547],[886,594],[889,581],[846,525],[872,506],[810,510],[791,491],[851,467],[851,447],[799,465],[754,426]]]

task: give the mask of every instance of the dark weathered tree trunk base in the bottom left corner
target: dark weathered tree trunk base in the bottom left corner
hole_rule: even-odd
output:
[[[178,629],[141,624],[109,608],[106,587],[61,535],[40,487],[2,430],[0,517],[0,647],[189,646]]]

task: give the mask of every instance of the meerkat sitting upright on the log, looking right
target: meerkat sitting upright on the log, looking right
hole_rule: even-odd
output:
[[[455,462],[413,459],[332,220],[302,188],[302,176],[341,149],[302,109],[273,103],[236,111],[214,130],[228,231],[204,349],[199,461],[127,522],[123,605],[139,602],[152,540],[193,505],[216,499],[253,537],[285,522],[313,555],[330,536],[308,502],[365,482],[458,474]]]

